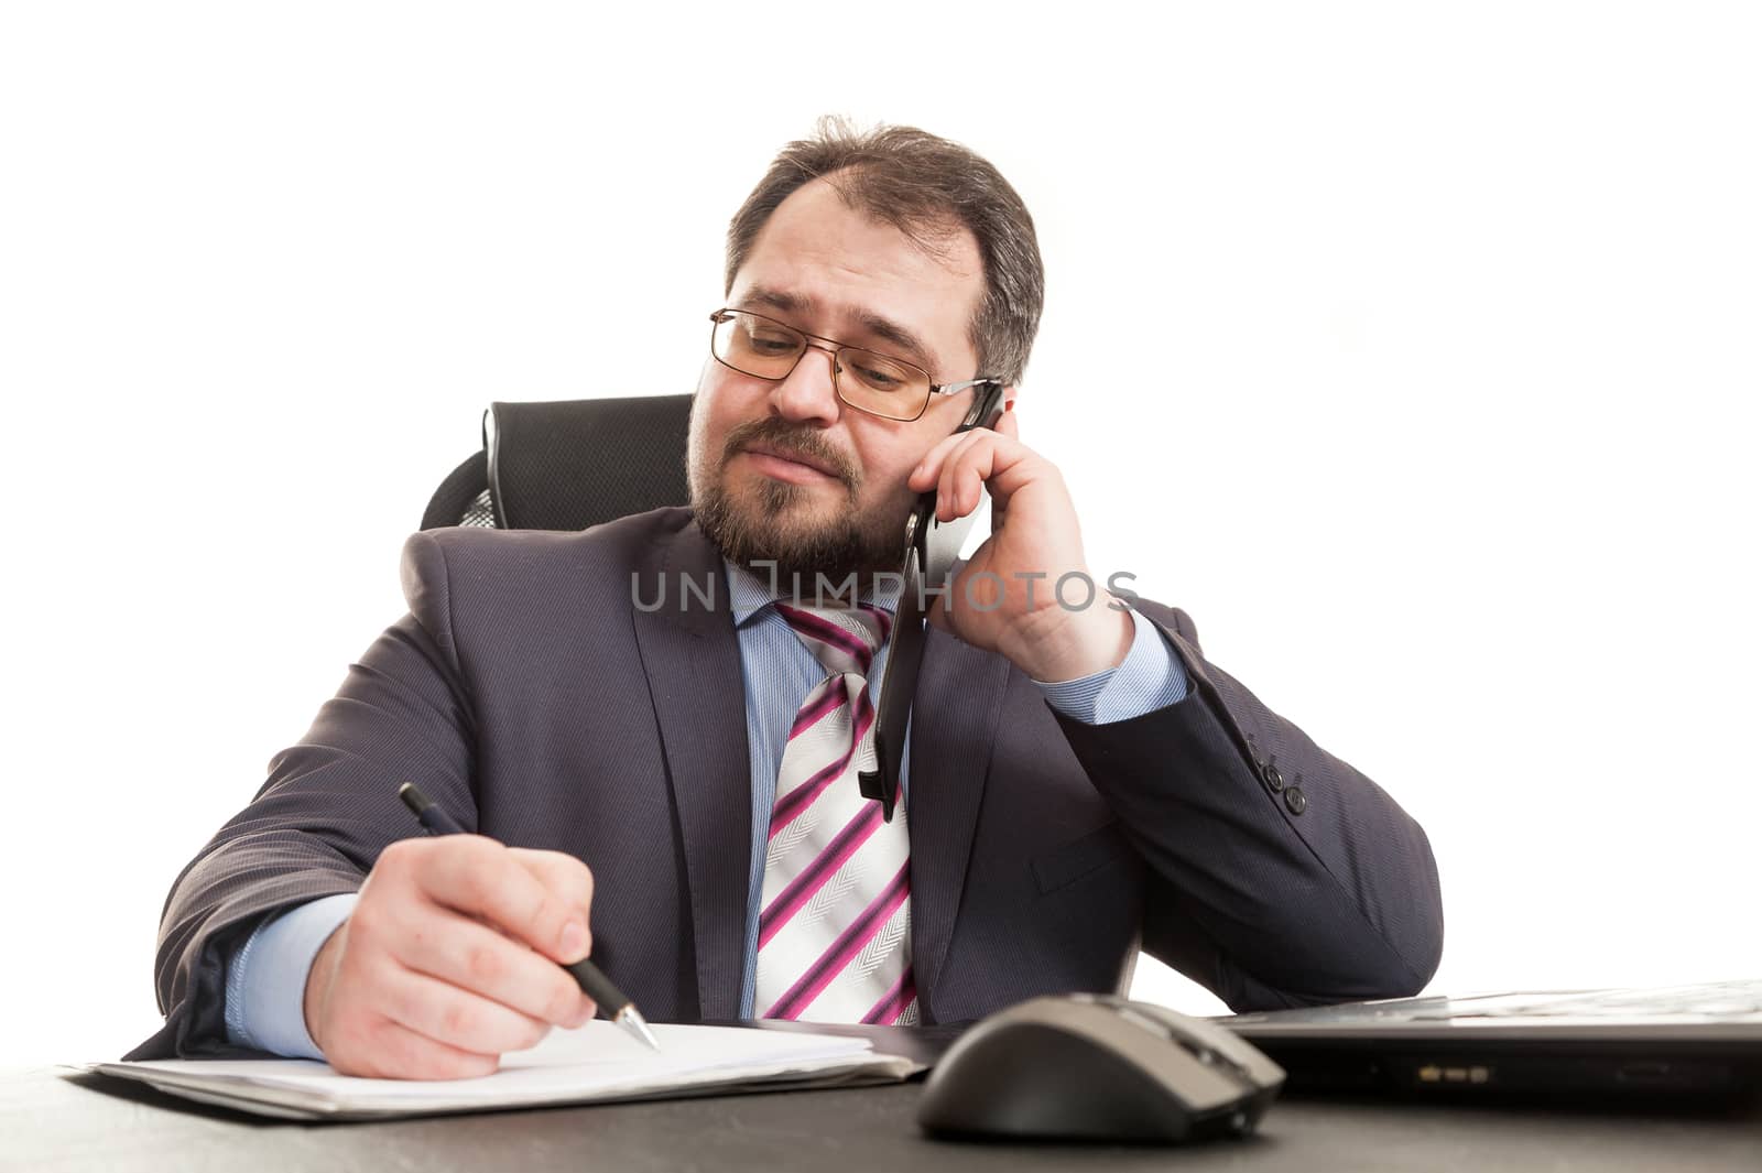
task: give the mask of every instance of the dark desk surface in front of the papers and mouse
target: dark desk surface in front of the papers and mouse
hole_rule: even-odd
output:
[[[922,1085],[289,1124],[104,1076],[0,1074],[0,1169],[1762,1169],[1762,1104],[1720,1113],[1281,1099],[1258,1136],[1179,1148],[951,1145],[913,1122]]]

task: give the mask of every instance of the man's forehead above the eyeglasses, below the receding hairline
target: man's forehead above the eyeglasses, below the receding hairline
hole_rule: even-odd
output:
[[[809,333],[902,358],[911,358],[902,347],[916,340],[932,375],[966,379],[976,361],[967,328],[983,292],[978,241],[957,227],[930,245],[812,180],[759,229],[729,298]]]

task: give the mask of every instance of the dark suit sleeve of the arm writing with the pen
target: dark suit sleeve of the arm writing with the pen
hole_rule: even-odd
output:
[[[446,557],[428,534],[403,548],[403,592],[411,613],[349,666],[305,738],[275,756],[257,796],[173,884],[155,960],[166,1025],[127,1059],[231,1050],[227,958],[277,912],[361,888],[379,852],[414,826],[400,782],[476,826],[474,722],[451,638]]]

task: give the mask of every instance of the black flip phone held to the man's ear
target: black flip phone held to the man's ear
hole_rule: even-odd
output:
[[[973,428],[992,428],[1003,414],[1003,382],[978,384],[973,410],[966,414],[953,435]],[[923,664],[925,585],[943,586],[960,558],[960,544],[973,528],[978,509],[953,521],[936,520],[936,490],[918,497],[906,518],[906,544],[900,567],[904,590],[893,611],[893,636],[881,671],[881,701],[876,706],[876,768],[858,770],[856,780],[863,798],[881,803],[881,817],[893,821],[899,801],[899,768],[906,757],[906,719],[911,717],[911,697],[918,692],[918,668]]]

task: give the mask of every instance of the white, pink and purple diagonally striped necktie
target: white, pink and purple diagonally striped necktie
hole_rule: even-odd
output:
[[[789,724],[765,852],[754,1009],[759,1018],[913,1025],[906,808],[883,823],[869,666],[892,627],[874,606],[777,613],[830,673]]]

